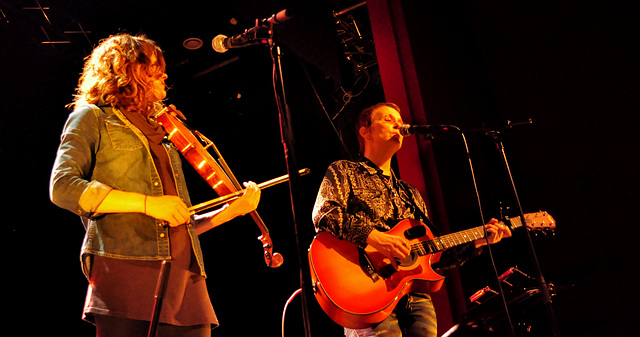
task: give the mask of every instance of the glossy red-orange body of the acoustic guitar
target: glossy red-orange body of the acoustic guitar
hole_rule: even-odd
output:
[[[410,219],[399,222],[388,233],[404,236],[412,245],[433,238],[426,225]],[[440,254],[419,256],[412,252],[397,263],[396,270],[389,259],[370,246],[362,250],[330,233],[319,233],[309,248],[315,297],[341,326],[369,327],[389,316],[403,295],[440,289],[444,277],[431,268]]]

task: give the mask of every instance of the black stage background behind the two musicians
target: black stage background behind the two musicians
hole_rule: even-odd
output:
[[[312,170],[301,179],[296,200],[306,258],[313,236],[311,208],[324,170],[349,155],[328,120],[334,120],[355,154],[346,125],[362,107],[384,100],[366,7],[349,13],[361,41],[342,43],[345,35],[332,20],[333,11],[357,3],[0,1],[5,325],[24,327],[20,335],[94,333],[80,320],[86,280],[78,253],[84,231],[75,215],[50,203],[47,186],[83,58],[100,39],[118,32],[145,33],[162,46],[172,87],[168,103],[215,142],[240,181],[261,182],[286,173],[269,50],[255,46],[218,54],[210,41],[217,34],[240,33],[256,18],[293,9],[277,41],[284,51],[296,159],[299,167]],[[545,278],[556,286],[553,307],[562,334],[636,335],[638,4],[402,4],[427,120],[466,131],[486,218],[498,216],[501,202],[513,215],[515,203],[495,144],[476,130],[507,120],[533,121],[502,134],[524,211],[549,211],[558,224],[554,236],[532,241]],[[29,9],[39,5],[49,8],[46,16]],[[90,33],[69,33],[82,29]],[[186,50],[182,43],[191,37],[204,46]],[[68,43],[43,43],[51,41]],[[356,47],[353,62],[347,61],[345,51]],[[358,64],[366,69],[357,70]],[[452,230],[477,225],[478,202],[460,137],[442,135],[433,145]],[[216,197],[186,163],[185,170],[192,200]],[[285,257],[282,267],[265,266],[259,231],[249,219],[201,237],[211,299],[222,324],[216,336],[279,335],[285,303],[299,287],[287,184],[262,195],[258,210],[274,251]],[[499,273],[518,266],[536,275],[521,231],[494,247],[492,256]],[[460,273],[466,297],[495,285],[486,252]],[[532,324],[533,334],[543,334],[544,310],[535,298],[530,302],[523,317],[514,316]],[[300,311],[296,297],[286,315],[286,335],[303,334]],[[341,335],[314,299],[310,312],[314,335]]]

